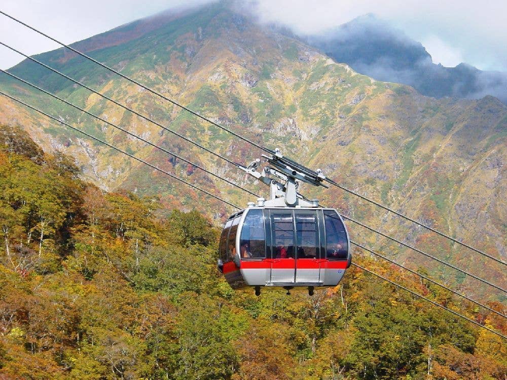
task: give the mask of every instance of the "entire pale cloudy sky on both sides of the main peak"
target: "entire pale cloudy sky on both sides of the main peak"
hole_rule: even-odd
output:
[[[235,0],[264,22],[298,33],[323,33],[355,17],[373,13],[421,42],[434,63],[461,62],[482,70],[507,71],[505,0]],[[3,0],[0,10],[72,43],[121,24],[166,10],[210,0]],[[309,7],[311,4],[311,7]],[[27,54],[56,49],[56,43],[0,15],[3,41]],[[22,60],[0,47],[0,68]]]

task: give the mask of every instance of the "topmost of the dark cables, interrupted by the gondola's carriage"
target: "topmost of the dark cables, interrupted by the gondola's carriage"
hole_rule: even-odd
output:
[[[204,116],[200,115],[200,113],[198,113],[198,112],[196,112],[196,111],[193,111],[192,109],[190,109],[190,108],[188,108],[188,107],[186,107],[186,106],[184,106],[184,105],[182,105],[182,104],[179,104],[178,102],[176,102],[176,101],[174,101],[174,100],[172,100],[172,99],[170,99],[170,98],[168,98],[168,97],[166,97],[166,96],[162,95],[161,93],[159,93],[159,92],[157,92],[157,91],[155,91],[155,90],[153,90],[153,89],[151,89],[151,88],[149,88],[149,87],[147,87],[147,86],[145,86],[145,85],[143,85],[143,84],[141,84],[141,83],[137,82],[136,80],[134,80],[134,79],[132,79],[132,78],[129,78],[127,75],[122,74],[121,72],[119,72],[119,71],[117,71],[117,70],[115,70],[115,69],[113,69],[113,68],[111,68],[111,67],[107,66],[106,64],[104,64],[104,63],[102,63],[102,62],[99,62],[99,61],[95,60],[94,58],[92,58],[92,57],[90,57],[90,56],[86,55],[85,53],[82,53],[82,52],[80,52],[79,50],[74,49],[73,47],[70,47],[70,46],[68,46],[68,45],[65,45],[64,43],[62,43],[62,42],[60,42],[60,41],[58,41],[58,40],[54,39],[53,37],[51,37],[51,36],[49,36],[48,34],[46,34],[46,33],[42,32],[42,31],[40,31],[40,30],[36,29],[35,27],[30,26],[30,25],[28,25],[28,24],[24,23],[23,21],[18,20],[18,19],[16,19],[15,17],[13,17],[13,16],[11,16],[11,15],[9,15],[9,14],[7,14],[7,13],[5,13],[5,12],[1,11],[1,10],[0,10],[0,14],[3,14],[4,16],[6,16],[6,17],[8,17],[8,18],[10,18],[10,19],[12,19],[12,20],[14,20],[14,21],[16,21],[16,22],[20,23],[21,25],[23,25],[23,26],[25,26],[25,27],[27,27],[27,28],[29,28],[29,29],[31,29],[31,30],[33,30],[33,31],[35,31],[35,32],[37,32],[37,33],[39,33],[39,34],[43,35],[43,36],[45,36],[46,38],[48,38],[48,39],[50,39],[50,40],[52,40],[52,41],[56,42],[57,44],[59,44],[59,45],[63,46],[64,48],[67,48],[67,49],[69,49],[69,50],[71,50],[71,51],[75,52],[76,54],[78,54],[78,55],[80,55],[80,56],[82,56],[82,57],[84,57],[84,58],[86,58],[86,59],[88,59],[88,60],[90,60],[90,61],[92,61],[92,62],[94,62],[94,63],[98,64],[99,66],[101,66],[101,67],[103,67],[103,68],[105,68],[105,69],[107,69],[107,70],[109,70],[109,71],[111,71],[111,72],[113,72],[113,73],[115,73],[115,74],[119,75],[120,77],[122,77],[122,78],[126,79],[127,81],[130,81],[130,82],[134,83],[135,85],[137,85],[137,86],[139,86],[139,87],[141,87],[141,88],[143,88],[143,89],[145,89],[145,90],[147,90],[147,91],[149,91],[149,92],[151,92],[151,93],[153,93],[154,95],[157,95],[157,96],[161,97],[162,99],[167,100],[168,102],[170,102],[170,103],[172,103],[172,104],[174,104],[174,105],[176,105],[176,106],[178,106],[178,107],[180,107],[180,108],[182,108],[182,109],[184,109],[184,110],[186,110],[186,111],[188,111],[188,112],[192,113],[192,115],[195,115],[195,116],[197,116],[198,118],[200,118],[200,119],[202,119],[202,120],[204,120],[204,121],[206,121],[206,122],[208,122],[208,123],[210,123],[210,124],[212,124],[212,125],[214,125],[214,126],[216,126],[216,127],[220,128],[220,129],[222,129],[222,130],[224,130],[224,131],[226,131],[226,132],[229,132],[229,133],[230,133],[230,134],[232,134],[233,136],[236,136],[236,137],[238,137],[239,139],[241,139],[241,140],[243,140],[243,141],[245,141],[245,142],[247,142],[247,143],[249,143],[249,144],[251,144],[251,145],[253,145],[253,146],[256,146],[257,148],[259,148],[259,149],[261,149],[261,150],[264,150],[264,151],[266,151],[267,153],[270,153],[270,154],[274,154],[274,153],[275,153],[273,150],[271,150],[271,149],[269,149],[269,148],[266,148],[266,147],[263,147],[263,146],[259,145],[258,143],[253,142],[253,141],[251,141],[251,140],[247,139],[246,137],[243,137],[243,136],[239,135],[238,133],[236,133],[236,132],[234,132],[234,131],[232,131],[232,130],[230,130],[230,129],[228,129],[228,128],[224,127],[224,126],[221,126],[220,124],[218,124],[218,123],[215,123],[215,122],[211,121],[210,119],[208,119],[208,118],[206,118],[206,117],[204,117]],[[5,44],[3,44],[3,45],[4,45],[4,46],[6,46]],[[404,214],[402,214],[402,213],[400,213],[400,212],[397,212],[397,211],[395,211],[395,210],[393,210],[393,209],[391,209],[391,208],[389,208],[389,207],[387,207],[387,206],[384,206],[384,205],[382,205],[382,204],[380,204],[380,203],[378,203],[378,202],[376,202],[376,201],[374,201],[374,200],[372,200],[372,199],[369,199],[369,198],[367,198],[367,197],[365,197],[365,196],[363,196],[363,195],[360,195],[360,194],[358,194],[358,193],[356,193],[356,192],[354,192],[354,191],[352,191],[352,190],[350,190],[350,189],[346,188],[345,186],[340,185],[339,183],[335,182],[334,180],[332,180],[332,179],[330,179],[330,178],[326,178],[326,179],[325,179],[325,181],[327,181],[327,182],[331,183],[331,184],[332,184],[332,185],[334,185],[334,186],[337,186],[337,187],[341,188],[342,190],[344,190],[344,191],[346,191],[346,192],[348,192],[348,193],[350,193],[350,194],[352,194],[352,195],[355,195],[356,197],[359,197],[359,198],[361,198],[361,199],[363,199],[363,200],[365,200],[365,201],[367,201],[367,202],[370,202],[370,203],[372,203],[372,204],[374,204],[374,205],[376,205],[376,206],[378,206],[378,207],[381,207],[381,208],[383,208],[383,209],[385,209],[385,210],[387,210],[387,211],[389,211],[389,212],[392,212],[393,214],[395,214],[395,215],[397,215],[397,216],[400,216],[400,217],[402,217],[402,218],[404,218],[404,219],[406,219],[406,220],[409,220],[409,221],[411,221],[411,222],[413,222],[413,223],[415,223],[415,224],[417,224],[417,225],[419,225],[419,226],[421,226],[421,227],[423,227],[423,228],[425,228],[425,229],[427,229],[427,230],[429,230],[429,231],[431,231],[431,232],[433,232],[433,233],[436,233],[436,234],[438,234],[438,235],[440,235],[440,236],[442,236],[442,237],[444,237],[444,238],[446,238],[446,239],[449,239],[449,240],[453,241],[454,243],[457,243],[457,244],[459,244],[459,245],[461,245],[461,246],[463,246],[463,247],[466,247],[466,248],[468,248],[468,249],[470,249],[470,250],[473,250],[473,251],[475,251],[475,252],[477,252],[477,253],[479,253],[479,254],[481,254],[481,255],[483,255],[483,256],[486,256],[486,257],[488,257],[488,258],[490,258],[490,259],[492,259],[492,260],[494,260],[494,261],[496,261],[496,262],[498,262],[498,263],[501,263],[501,264],[507,265],[507,262],[505,262],[505,261],[502,261],[502,260],[500,260],[500,259],[497,259],[496,257],[491,256],[491,255],[489,255],[489,254],[487,254],[487,253],[485,253],[485,252],[483,252],[483,251],[481,251],[481,250],[479,250],[479,249],[477,249],[477,248],[474,248],[474,247],[472,247],[472,246],[470,246],[470,245],[467,245],[467,244],[465,244],[465,243],[462,243],[462,242],[460,242],[459,240],[457,240],[457,239],[455,239],[455,238],[453,238],[453,237],[451,237],[451,236],[449,236],[449,235],[446,235],[446,234],[444,234],[444,233],[442,233],[442,232],[440,232],[440,231],[438,231],[438,230],[435,230],[435,229],[433,229],[432,227],[430,227],[430,226],[428,226],[428,225],[426,225],[426,224],[424,224],[424,223],[421,223],[421,222],[419,222],[419,221],[417,221],[417,220],[415,220],[415,219],[412,219],[412,218],[410,218],[410,217],[408,217],[408,216],[406,216],[406,215],[404,215]]]

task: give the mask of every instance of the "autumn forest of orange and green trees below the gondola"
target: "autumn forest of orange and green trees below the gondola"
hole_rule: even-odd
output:
[[[216,269],[219,226],[79,173],[0,127],[2,380],[507,378],[500,337],[354,267],[314,296],[233,291]],[[354,260],[507,333],[418,276]]]

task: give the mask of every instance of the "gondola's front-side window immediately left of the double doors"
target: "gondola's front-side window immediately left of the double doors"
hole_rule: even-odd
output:
[[[266,257],[266,239],[264,235],[264,215],[262,210],[250,210],[241,227],[241,258]]]

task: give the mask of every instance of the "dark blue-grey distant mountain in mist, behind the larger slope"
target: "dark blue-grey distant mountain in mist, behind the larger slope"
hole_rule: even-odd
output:
[[[481,71],[465,63],[434,64],[420,43],[371,14],[302,38],[337,62],[379,81],[403,83],[436,98],[492,95],[507,104],[507,73]]]

